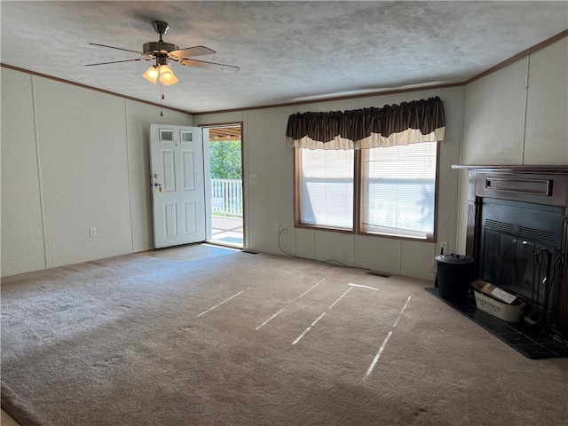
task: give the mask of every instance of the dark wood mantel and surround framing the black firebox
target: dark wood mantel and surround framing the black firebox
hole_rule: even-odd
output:
[[[466,255],[475,259],[479,252],[481,207],[485,198],[563,208],[560,221],[564,233],[559,249],[568,253],[568,166],[453,165],[452,169],[469,170]],[[568,272],[562,278],[558,313],[561,331],[568,335]]]

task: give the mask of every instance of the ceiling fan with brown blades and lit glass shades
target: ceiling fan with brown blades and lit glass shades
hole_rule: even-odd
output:
[[[222,71],[225,73],[233,74],[239,71],[239,67],[233,67],[232,65],[217,64],[215,62],[192,59],[194,56],[211,55],[213,53],[216,53],[216,51],[212,51],[205,46],[194,46],[186,47],[185,49],[179,49],[176,44],[166,43],[162,39],[162,36],[166,34],[166,31],[168,30],[168,28],[170,28],[167,22],[163,22],[162,20],[154,20],[153,25],[155,32],[160,34],[160,40],[158,42],[144,43],[144,45],[142,46],[142,51],[131,51],[130,49],[107,46],[106,44],[90,43],[93,46],[108,47],[110,49],[117,49],[119,51],[131,51],[133,53],[137,53],[138,55],[144,56],[145,58],[114,60],[112,62],[99,62],[97,64],[86,64],[86,67],[155,59],[155,65],[149,67],[143,76],[144,78],[146,78],[146,80],[154,84],[156,84],[158,80],[160,80],[160,82],[166,86],[178,82],[176,75],[174,75],[169,66],[169,60],[177,62],[181,65],[185,65],[185,67],[213,69],[215,71]]]

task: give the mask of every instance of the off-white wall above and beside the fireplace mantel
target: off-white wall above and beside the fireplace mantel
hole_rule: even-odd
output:
[[[568,164],[568,38],[466,87],[462,164]],[[468,172],[458,248],[465,249]]]

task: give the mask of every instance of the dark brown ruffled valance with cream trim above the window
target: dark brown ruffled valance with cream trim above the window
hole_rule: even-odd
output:
[[[438,97],[382,108],[288,117],[286,143],[309,149],[365,149],[444,140],[444,106]]]

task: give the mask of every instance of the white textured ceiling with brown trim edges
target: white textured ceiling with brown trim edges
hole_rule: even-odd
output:
[[[136,59],[159,35],[225,74],[177,63],[164,105],[198,113],[461,83],[568,28],[568,2],[10,2],[0,3],[3,64],[160,102]]]

